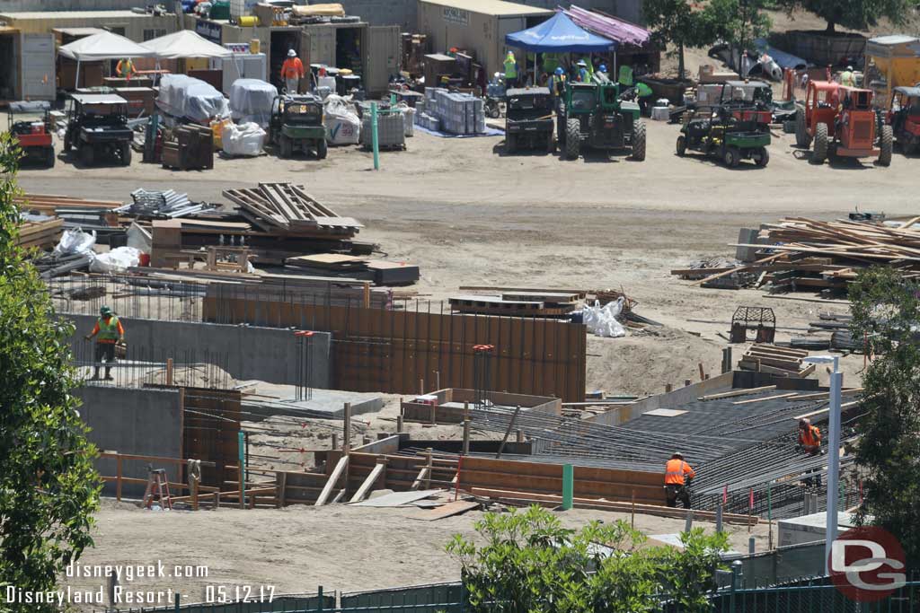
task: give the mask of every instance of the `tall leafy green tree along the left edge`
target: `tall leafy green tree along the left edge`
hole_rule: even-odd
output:
[[[71,326],[16,244],[18,158],[0,135],[0,587],[47,591],[92,544],[99,479],[70,393]],[[0,610],[46,609],[0,602]]]

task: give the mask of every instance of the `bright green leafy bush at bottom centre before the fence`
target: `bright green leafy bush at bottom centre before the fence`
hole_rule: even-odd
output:
[[[644,613],[673,598],[688,613],[708,610],[724,535],[682,535],[684,551],[641,547],[623,521],[563,528],[539,506],[487,513],[475,526],[480,547],[461,535],[447,551],[459,560],[477,613]]]

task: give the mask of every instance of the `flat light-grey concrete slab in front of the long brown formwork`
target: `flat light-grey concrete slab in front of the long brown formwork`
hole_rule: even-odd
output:
[[[374,413],[384,407],[384,399],[378,394],[367,392],[342,392],[340,390],[317,390],[310,392],[309,400],[297,400],[293,385],[278,385],[263,381],[250,381],[251,387],[243,388],[243,411],[253,414],[248,418],[259,421],[272,415],[295,415],[342,419],[345,403],[351,403],[351,414]]]

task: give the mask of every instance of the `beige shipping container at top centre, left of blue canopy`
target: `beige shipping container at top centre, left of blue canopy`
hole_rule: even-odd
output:
[[[431,51],[466,51],[487,74],[503,72],[508,51],[514,51],[523,66],[523,52],[506,46],[505,35],[552,16],[551,10],[502,0],[419,0],[419,31],[428,36]]]

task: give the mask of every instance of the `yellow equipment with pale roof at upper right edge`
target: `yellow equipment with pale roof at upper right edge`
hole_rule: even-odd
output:
[[[920,39],[903,34],[869,39],[865,74],[863,87],[875,92],[875,106],[888,108],[892,89],[920,83]]]

